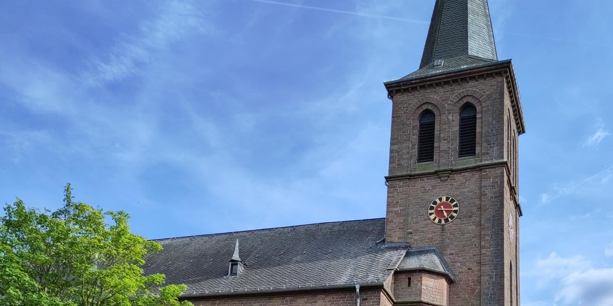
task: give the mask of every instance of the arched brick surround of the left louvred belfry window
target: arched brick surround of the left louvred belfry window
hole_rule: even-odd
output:
[[[411,148],[409,158],[411,159],[411,168],[417,165],[417,148],[419,146],[419,119],[424,111],[432,111],[435,114],[435,132],[434,132],[434,156],[433,161],[438,163],[440,160],[440,127],[444,123],[441,110],[444,109],[443,102],[436,97],[425,97],[418,99],[416,105],[419,105],[413,110],[409,110],[407,118],[411,122]]]

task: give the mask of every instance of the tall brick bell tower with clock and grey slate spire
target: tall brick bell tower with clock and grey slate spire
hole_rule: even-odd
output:
[[[419,69],[384,84],[392,100],[386,243],[438,247],[457,276],[449,306],[519,305],[525,124],[487,0],[436,0]]]

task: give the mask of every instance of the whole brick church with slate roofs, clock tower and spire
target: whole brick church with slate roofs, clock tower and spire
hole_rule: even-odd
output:
[[[525,124],[487,0],[436,0],[419,69],[384,86],[385,218],[159,239],[145,273],[202,306],[519,305]]]

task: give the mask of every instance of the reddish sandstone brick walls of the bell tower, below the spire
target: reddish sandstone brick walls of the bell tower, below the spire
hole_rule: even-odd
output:
[[[478,111],[477,154],[459,158],[458,119],[466,102]],[[436,114],[435,160],[417,163],[417,125],[425,109]],[[513,243],[508,235],[508,215],[512,214],[515,222],[519,219],[515,209],[517,127],[511,117],[508,88],[501,73],[394,95],[389,175],[408,176],[388,181],[386,241],[440,249],[457,277],[449,286],[450,306],[517,305],[519,299],[519,223]],[[508,160],[508,168],[504,160]],[[496,164],[484,165],[488,162]],[[437,173],[444,169],[452,171],[449,177]],[[460,203],[458,217],[444,226],[427,217],[428,204],[442,195],[453,196]],[[509,281],[511,263],[514,271]]]

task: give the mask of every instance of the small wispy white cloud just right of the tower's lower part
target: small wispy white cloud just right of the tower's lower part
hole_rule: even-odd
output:
[[[564,258],[558,256],[556,252],[552,252],[547,258],[537,258],[535,266],[535,271],[538,271],[540,275],[537,285],[542,288],[555,278],[562,278],[573,272],[590,269],[592,263],[581,255]]]

